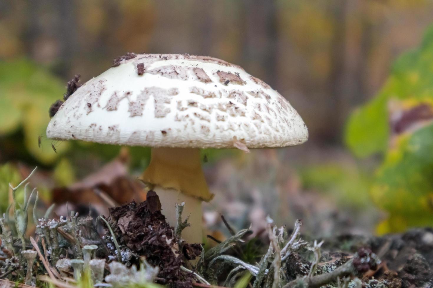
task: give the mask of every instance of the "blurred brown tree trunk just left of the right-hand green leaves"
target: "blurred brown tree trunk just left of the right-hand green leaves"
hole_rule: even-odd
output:
[[[372,47],[372,24],[367,5],[363,0],[336,0],[331,5],[334,34],[330,50],[332,66],[328,79],[327,110],[328,115],[332,116],[327,125],[328,131],[323,131],[321,137],[326,142],[341,141],[351,108],[364,102],[367,96],[368,58]],[[353,14],[358,18],[353,19]],[[349,23],[349,20],[352,22]],[[356,25],[359,25],[359,30],[353,27]]]

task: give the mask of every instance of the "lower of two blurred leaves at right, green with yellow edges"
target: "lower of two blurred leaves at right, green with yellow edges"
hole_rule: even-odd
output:
[[[433,125],[402,134],[396,142],[377,171],[372,199],[392,215],[411,222],[430,218],[433,225]]]

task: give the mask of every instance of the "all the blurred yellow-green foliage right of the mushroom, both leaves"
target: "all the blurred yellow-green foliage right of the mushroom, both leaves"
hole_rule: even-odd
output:
[[[433,124],[428,116],[412,114],[406,120],[414,121],[410,129],[391,133],[388,107],[397,101],[399,113],[417,105],[433,111],[432,75],[433,26],[417,50],[396,61],[378,95],[356,110],[346,127],[346,143],[356,156],[384,158],[370,190],[374,203],[389,213],[378,225],[380,234],[433,225]]]

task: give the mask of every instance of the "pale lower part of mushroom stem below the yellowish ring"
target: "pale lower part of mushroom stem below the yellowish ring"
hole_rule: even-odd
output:
[[[161,202],[162,214],[167,219],[170,226],[176,227],[176,204],[185,203],[184,211],[182,212],[182,220],[188,215],[188,223],[191,224],[182,231],[182,238],[188,243],[202,243],[203,242],[203,221],[202,221],[202,210],[201,200],[193,196],[185,195],[178,190],[172,188],[162,188],[159,185],[155,185],[152,188],[153,191],[159,197]]]

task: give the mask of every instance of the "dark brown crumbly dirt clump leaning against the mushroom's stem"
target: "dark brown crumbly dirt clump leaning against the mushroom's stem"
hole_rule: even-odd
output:
[[[181,272],[180,266],[186,259],[194,259],[196,244],[183,245],[179,251],[179,237],[165,221],[161,213],[161,203],[154,191],[149,191],[147,200],[110,208],[110,218],[120,244],[128,247],[138,256],[145,256],[153,266],[159,266],[158,277],[165,279],[163,284],[173,287],[191,287],[191,275]],[[199,244],[197,244],[199,245]],[[200,245],[199,245],[200,246]],[[200,250],[201,251],[201,250]]]

